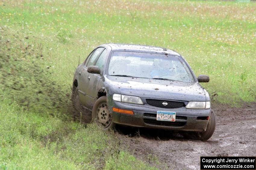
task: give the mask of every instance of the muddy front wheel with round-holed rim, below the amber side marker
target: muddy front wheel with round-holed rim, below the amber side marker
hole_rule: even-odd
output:
[[[115,123],[112,121],[112,116],[108,110],[106,96],[96,100],[92,108],[92,121],[96,122],[99,126],[103,126],[105,130],[115,127]]]

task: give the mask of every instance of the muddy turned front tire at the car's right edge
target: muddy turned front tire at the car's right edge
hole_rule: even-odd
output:
[[[211,111],[211,116],[207,125],[207,129],[206,131],[199,133],[199,139],[201,141],[207,141],[208,139],[210,139],[212,134],[214,133],[215,126],[216,126],[216,118],[215,118],[214,112]]]

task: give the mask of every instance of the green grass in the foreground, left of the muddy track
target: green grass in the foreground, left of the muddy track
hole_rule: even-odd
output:
[[[39,116],[10,100],[0,110],[0,169],[155,169],[121,150],[113,132],[95,124]]]

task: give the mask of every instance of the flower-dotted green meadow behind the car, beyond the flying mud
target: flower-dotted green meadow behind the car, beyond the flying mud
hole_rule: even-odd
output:
[[[254,101],[248,92],[256,78],[253,2],[4,1],[0,10],[1,27],[40,46],[61,85],[71,85],[78,57],[97,45],[135,43],[180,52],[196,75],[210,76],[202,85],[220,103]]]

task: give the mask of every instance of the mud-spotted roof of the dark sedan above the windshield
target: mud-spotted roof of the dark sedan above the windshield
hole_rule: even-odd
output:
[[[155,47],[155,46],[148,46],[148,45],[134,45],[134,44],[104,44],[109,45],[112,48],[112,51],[133,51],[133,52],[150,52],[150,53],[158,53],[158,54],[169,54],[174,56],[181,56],[176,51]]]

